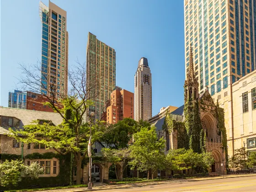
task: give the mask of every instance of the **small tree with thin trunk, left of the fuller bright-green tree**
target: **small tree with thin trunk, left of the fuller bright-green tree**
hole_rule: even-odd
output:
[[[128,166],[128,160],[130,158],[130,149],[109,149],[104,148],[102,150],[103,160],[110,162],[115,166],[115,173],[117,179],[123,179],[123,171]],[[120,165],[120,175],[117,174],[117,168]]]

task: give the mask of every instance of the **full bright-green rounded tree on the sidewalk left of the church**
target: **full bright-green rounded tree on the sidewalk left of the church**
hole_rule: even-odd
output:
[[[161,159],[164,158],[165,140],[157,138],[155,127],[141,127],[138,133],[135,133],[133,145],[129,146],[132,160],[129,165],[132,169],[138,171],[147,171],[149,179],[149,170],[153,173],[162,168]]]

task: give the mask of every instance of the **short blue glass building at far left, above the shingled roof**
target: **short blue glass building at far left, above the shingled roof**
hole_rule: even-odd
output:
[[[17,91],[9,92],[8,107],[26,109],[27,92]]]

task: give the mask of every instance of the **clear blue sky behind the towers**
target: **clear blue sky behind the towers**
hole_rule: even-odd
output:
[[[48,0],[42,0],[48,6]],[[116,50],[116,84],[134,92],[141,57],[152,73],[153,115],[183,104],[183,0],[52,0],[67,11],[69,65],[86,60],[88,32]],[[16,88],[18,63],[41,58],[39,0],[1,0],[0,105]]]

